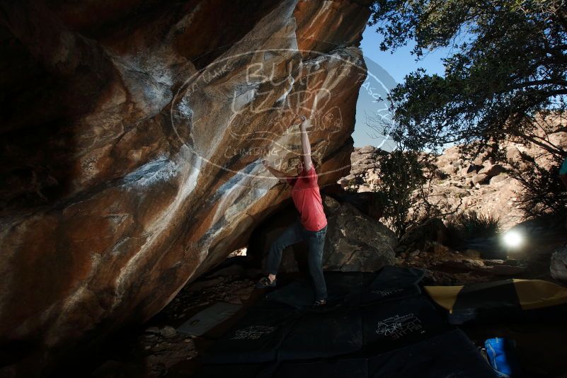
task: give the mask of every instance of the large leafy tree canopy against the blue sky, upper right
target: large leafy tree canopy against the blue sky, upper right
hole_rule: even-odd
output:
[[[395,50],[410,38],[418,58],[426,50],[452,47],[443,59],[445,76],[418,69],[389,93],[394,121],[411,149],[449,142],[484,149],[507,137],[534,139],[529,130],[537,113],[566,108],[562,3],[376,0],[370,24],[384,36],[381,50]]]

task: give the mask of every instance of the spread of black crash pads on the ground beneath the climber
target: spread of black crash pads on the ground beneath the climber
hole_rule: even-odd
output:
[[[420,294],[423,271],[325,273],[328,306],[309,279],[270,291],[217,340],[198,377],[494,377],[462,331]],[[403,290],[398,290],[398,289]]]

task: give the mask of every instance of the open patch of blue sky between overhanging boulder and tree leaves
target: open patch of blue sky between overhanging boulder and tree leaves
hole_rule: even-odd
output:
[[[435,50],[428,52],[425,57],[416,62],[416,57],[410,54],[415,42],[408,41],[408,45],[399,47],[394,54],[391,51],[380,51],[379,45],[382,41],[382,35],[376,33],[376,26],[366,27],[362,33],[362,42],[360,48],[365,57],[368,68],[368,78],[360,87],[360,93],[356,108],[356,123],[353,139],[355,139],[355,147],[363,147],[371,145],[391,151],[394,147],[393,142],[379,137],[367,122],[371,124],[370,118],[377,113],[379,117],[388,118],[386,103],[377,103],[375,93],[385,97],[389,88],[393,88],[396,84],[403,81],[404,76],[412,71],[416,71],[419,67],[425,69],[428,74],[440,74],[444,76],[445,69],[441,58],[447,57],[448,49]],[[370,134],[370,135],[369,135]]]

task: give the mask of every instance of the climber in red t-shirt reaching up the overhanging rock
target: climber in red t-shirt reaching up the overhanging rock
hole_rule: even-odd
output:
[[[284,248],[300,241],[306,241],[309,247],[309,273],[315,290],[313,306],[321,307],[326,304],[327,299],[327,287],[321,266],[327,219],[323,212],[323,203],[317,183],[316,169],[319,168],[319,161],[315,156],[311,156],[311,146],[309,145],[309,137],[307,137],[306,129],[309,122],[304,115],[299,116],[299,119],[301,120],[299,131],[301,132],[303,159],[297,164],[297,176],[288,177],[284,172],[268,166],[267,161],[262,161],[265,168],[279,178],[282,183],[288,183],[292,186],[292,200],[297,211],[299,211],[299,217],[270,246],[266,266],[268,276],[262,277],[256,283],[256,287],[258,289],[275,287],[275,277]]]

